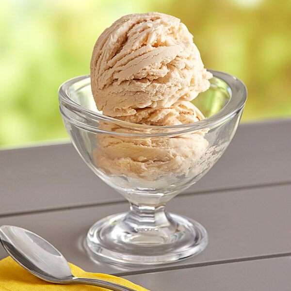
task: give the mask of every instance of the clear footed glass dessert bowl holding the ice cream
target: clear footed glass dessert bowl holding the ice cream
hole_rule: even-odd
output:
[[[205,119],[176,126],[147,126],[98,112],[90,76],[59,89],[60,112],[70,139],[99,178],[130,204],[88,231],[90,253],[119,262],[161,264],[200,253],[207,232],[193,219],[168,213],[166,203],[213,166],[238,127],[246,101],[242,81],[210,70],[210,89],[193,103]]]

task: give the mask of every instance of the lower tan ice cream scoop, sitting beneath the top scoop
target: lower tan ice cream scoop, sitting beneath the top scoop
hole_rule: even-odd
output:
[[[174,111],[174,108],[178,110]],[[202,113],[189,101],[182,101],[170,108],[163,108],[157,116],[158,123],[164,121],[174,125],[191,123],[200,120]],[[173,112],[174,111],[174,112]],[[145,120],[154,125],[157,120],[154,114],[131,115],[135,121]],[[123,119],[125,116],[123,116]],[[126,116],[129,117],[129,116]],[[161,118],[160,118],[161,117]],[[187,121],[186,121],[187,120]],[[132,120],[130,120],[132,121]],[[132,133],[131,130],[112,124],[102,124],[101,129],[111,132]],[[187,175],[194,162],[197,162],[208,146],[204,131],[183,134],[177,137],[125,137],[99,134],[98,148],[94,151],[94,160],[106,173],[130,178],[153,180],[162,175]]]

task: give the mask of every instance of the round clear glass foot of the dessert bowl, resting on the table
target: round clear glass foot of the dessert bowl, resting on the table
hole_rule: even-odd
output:
[[[168,225],[137,228],[128,222],[128,213],[105,217],[89,229],[89,252],[121,263],[155,265],[185,259],[206,248],[208,237],[202,225],[177,214],[168,218]]]

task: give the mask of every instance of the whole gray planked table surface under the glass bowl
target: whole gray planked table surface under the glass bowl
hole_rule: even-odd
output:
[[[160,266],[93,262],[83,249],[88,228],[126,210],[70,144],[0,151],[0,225],[36,232],[86,271],[151,291],[290,291],[291,120],[240,125],[210,172],[169,202],[206,227],[198,256]]]

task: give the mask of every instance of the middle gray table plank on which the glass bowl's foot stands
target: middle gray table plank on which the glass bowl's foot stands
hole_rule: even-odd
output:
[[[194,218],[205,226],[209,245],[196,257],[155,269],[291,253],[290,193],[291,185],[285,185],[174,198],[168,210]],[[11,216],[1,218],[0,225],[32,230],[86,271],[125,274],[133,270],[151,270],[152,266],[120,267],[102,261],[96,264],[82,248],[84,235],[95,221],[126,211],[128,207],[128,203],[120,203]],[[0,248],[0,258],[5,256],[4,249]]]

